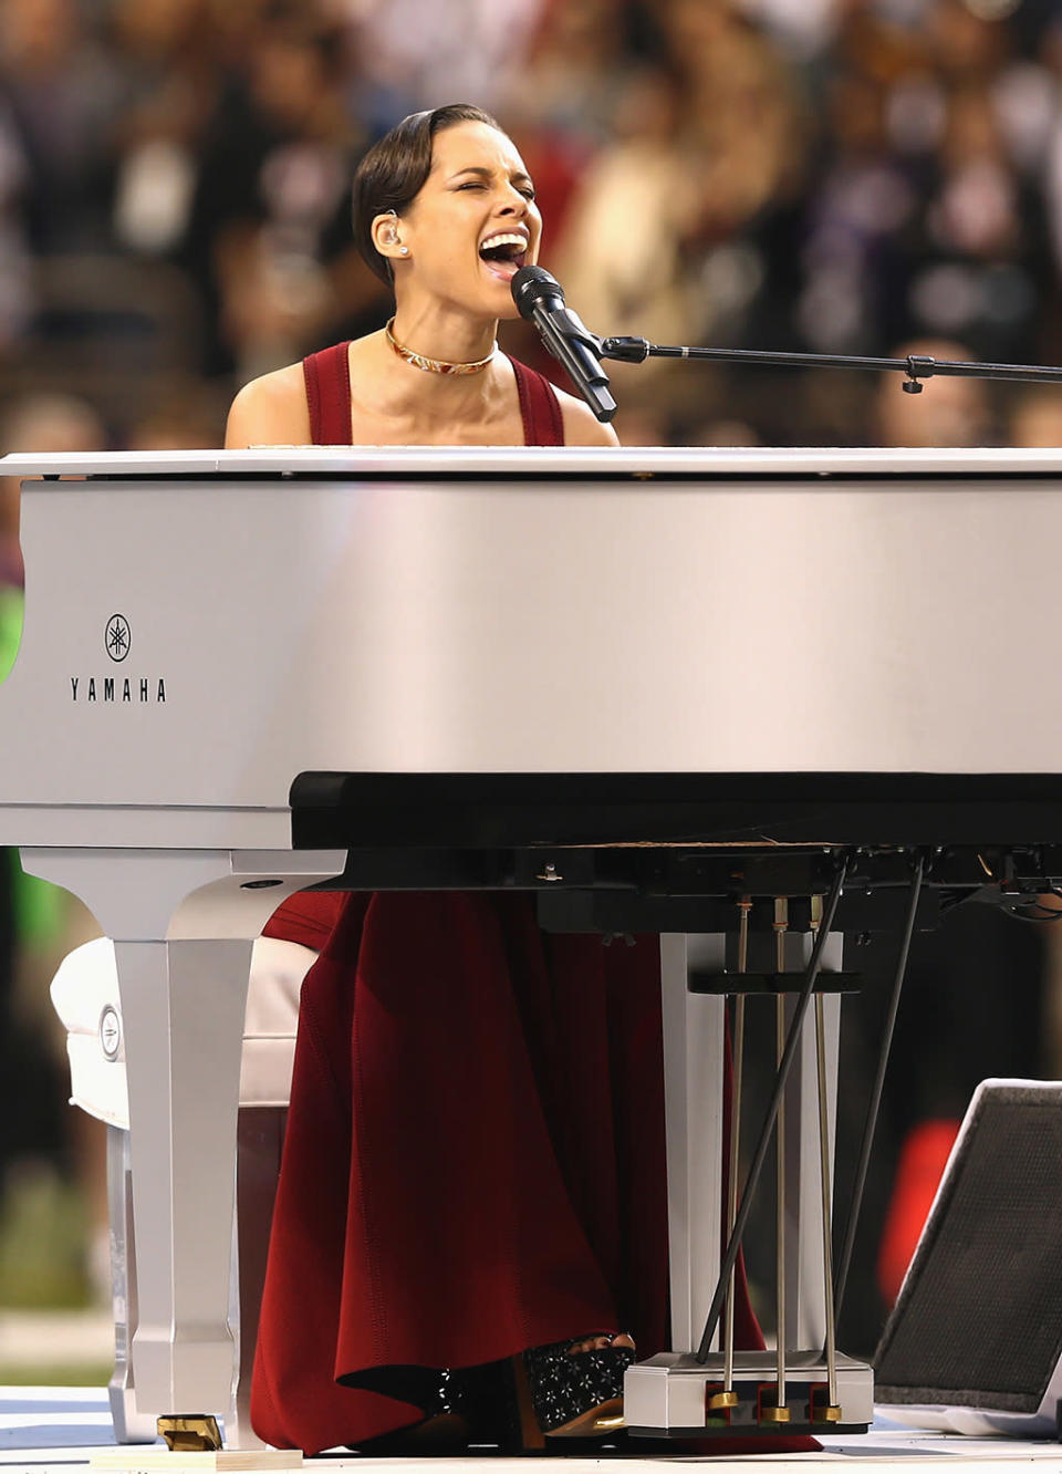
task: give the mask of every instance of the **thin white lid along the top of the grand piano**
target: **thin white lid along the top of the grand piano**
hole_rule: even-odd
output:
[[[1062,450],[726,450],[592,445],[284,445],[246,451],[63,451],[0,458],[7,476],[710,476],[1062,475]]]

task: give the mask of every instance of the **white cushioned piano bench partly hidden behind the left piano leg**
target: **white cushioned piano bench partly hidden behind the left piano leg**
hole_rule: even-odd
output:
[[[302,980],[317,952],[296,942],[258,937],[250,963],[240,1063],[237,1209],[233,1231],[230,1325],[239,1366],[227,1436],[249,1445],[247,1400],[280,1150],[292,1088]],[[52,980],[52,1002],[66,1027],[71,1104],[108,1126],[110,1284],[115,1371],[110,1414],[118,1443],[153,1443],[158,1414],[138,1409],[128,1349],[137,1327],[136,1225],[130,1176],[130,1113],[113,943],[75,948]]]

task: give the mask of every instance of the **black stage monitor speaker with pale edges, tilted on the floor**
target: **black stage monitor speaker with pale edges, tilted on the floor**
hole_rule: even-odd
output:
[[[974,1092],[875,1356],[916,1427],[1059,1436],[1062,1083]]]

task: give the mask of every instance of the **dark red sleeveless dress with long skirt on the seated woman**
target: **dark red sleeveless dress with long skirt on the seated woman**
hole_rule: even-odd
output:
[[[563,444],[514,363],[529,445]],[[351,442],[346,345],[306,360]],[[342,1378],[629,1330],[667,1344],[658,939],[548,936],[499,893],[292,898],[302,991],[252,1421],[314,1453],[420,1418]],[[760,1346],[747,1303],[739,1344]]]

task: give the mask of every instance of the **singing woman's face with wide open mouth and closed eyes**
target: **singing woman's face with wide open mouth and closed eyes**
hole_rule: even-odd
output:
[[[417,286],[485,317],[516,317],[510,283],[538,258],[542,217],[513,142],[485,122],[435,137],[432,172],[398,223],[395,290]]]

